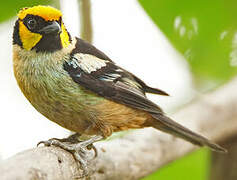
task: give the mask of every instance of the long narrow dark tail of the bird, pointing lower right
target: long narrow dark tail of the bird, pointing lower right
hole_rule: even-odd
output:
[[[154,128],[159,129],[161,131],[167,132],[169,134],[180,137],[186,141],[191,142],[192,144],[198,146],[207,146],[214,151],[227,153],[227,150],[209,141],[207,138],[192,132],[191,130],[183,127],[182,125],[176,123],[169,117],[162,114],[152,114],[156,120],[152,124]]]

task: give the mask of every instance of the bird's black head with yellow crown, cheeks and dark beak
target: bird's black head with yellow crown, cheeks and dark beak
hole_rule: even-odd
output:
[[[27,51],[54,52],[71,43],[62,13],[50,6],[23,8],[18,13],[13,32],[13,44]]]

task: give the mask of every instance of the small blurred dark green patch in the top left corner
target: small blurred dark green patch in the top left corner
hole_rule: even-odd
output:
[[[9,0],[0,3],[0,22],[16,16],[18,11],[23,7],[35,5],[45,5],[52,3],[52,0]]]

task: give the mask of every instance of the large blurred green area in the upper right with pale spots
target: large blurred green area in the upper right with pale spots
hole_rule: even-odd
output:
[[[237,73],[237,1],[139,0],[188,61],[196,82],[221,84]]]

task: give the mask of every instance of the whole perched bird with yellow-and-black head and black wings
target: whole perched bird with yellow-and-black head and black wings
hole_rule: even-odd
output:
[[[113,132],[153,127],[217,152],[226,149],[169,118],[146,94],[168,96],[67,31],[60,10],[22,8],[13,31],[16,81],[33,107],[74,132],[41,143],[71,152],[88,171],[85,151]],[[77,140],[77,137],[86,137]],[[94,147],[93,147],[94,148]]]

